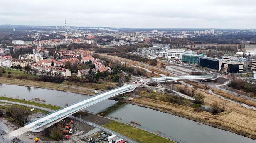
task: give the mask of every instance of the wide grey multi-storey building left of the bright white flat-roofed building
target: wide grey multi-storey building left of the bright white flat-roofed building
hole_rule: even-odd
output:
[[[138,53],[148,53],[148,54],[159,54],[161,51],[169,49],[168,45],[153,45],[153,47],[138,47]]]

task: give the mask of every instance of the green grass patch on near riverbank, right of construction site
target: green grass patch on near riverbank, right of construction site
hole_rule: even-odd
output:
[[[138,143],[174,143],[173,141],[162,138],[161,136],[149,133],[125,123],[111,121],[103,125],[103,127],[127,136]]]

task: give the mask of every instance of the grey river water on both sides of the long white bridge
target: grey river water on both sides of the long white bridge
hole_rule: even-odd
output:
[[[32,98],[44,99],[47,104],[64,106],[72,104],[88,96],[62,92],[49,89],[41,89],[17,85],[0,85],[0,95],[9,97],[19,96],[19,99],[31,100]],[[91,107],[86,108],[92,113],[98,113],[116,101],[104,100]],[[144,130],[158,133],[180,143],[256,143],[256,140],[240,136],[229,131],[220,130],[211,126],[203,125],[185,118],[177,117],[168,113],[155,111],[136,105],[125,104],[118,110],[110,113],[109,117],[118,117],[120,122],[130,123],[135,121]],[[121,120],[121,119],[122,120]]]

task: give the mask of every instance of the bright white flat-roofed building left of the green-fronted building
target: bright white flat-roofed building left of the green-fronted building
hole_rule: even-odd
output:
[[[160,58],[175,58],[181,59],[184,54],[192,54],[192,51],[186,51],[185,49],[169,49],[160,52]]]

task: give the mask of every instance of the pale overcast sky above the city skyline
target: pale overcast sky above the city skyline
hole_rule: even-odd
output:
[[[0,24],[256,28],[256,0],[1,0]]]

